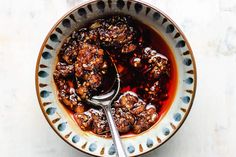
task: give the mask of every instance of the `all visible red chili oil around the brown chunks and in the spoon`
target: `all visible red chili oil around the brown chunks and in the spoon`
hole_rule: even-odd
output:
[[[153,50],[156,50],[158,53],[166,56],[168,58],[169,64],[170,64],[170,74],[169,78],[166,80],[166,90],[167,90],[167,99],[162,100],[161,102],[158,102],[158,104],[153,104],[157,105],[156,108],[157,113],[158,113],[158,118],[156,119],[156,125],[162,117],[167,113],[169,110],[174,97],[175,97],[175,92],[177,88],[177,82],[178,82],[178,74],[177,74],[177,67],[176,67],[176,62],[173,56],[173,52],[165,39],[156,31],[154,31],[151,27],[143,24],[140,21],[135,20],[135,25],[138,26],[138,29],[142,33],[142,40],[144,40],[145,45],[147,47],[152,48]],[[114,63],[117,66],[117,69],[120,74],[121,78],[121,90],[120,94],[126,92],[126,91],[132,91],[136,93],[141,99],[142,94],[139,93],[140,88],[142,88],[142,84],[144,84],[147,80],[145,80],[144,76],[140,71],[135,69],[132,65],[130,65],[130,58],[135,55],[135,53],[140,54],[142,53],[141,49],[137,49],[134,52],[130,54],[121,54],[117,55],[117,52],[109,52],[112,56],[112,59],[114,60]],[[108,88],[108,85],[111,85],[111,77],[114,76],[111,73],[107,73],[105,76],[105,79],[103,80],[103,84],[101,85],[104,88]],[[104,91],[104,89],[100,89],[100,92]],[[148,104],[148,102],[146,102]],[[161,106],[160,106],[161,104]],[[86,105],[86,110],[94,108],[94,106]],[[74,120],[73,117],[73,112],[70,110],[67,110],[68,113],[71,115],[72,119]],[[150,129],[150,128],[149,128]],[[93,133],[92,131],[89,131]],[[145,132],[145,131],[144,131]],[[94,133],[93,133],[94,134]],[[96,135],[96,134],[95,134]],[[122,137],[130,137],[130,136],[135,136],[136,134],[133,134],[132,132],[128,132],[125,134],[121,134]]]

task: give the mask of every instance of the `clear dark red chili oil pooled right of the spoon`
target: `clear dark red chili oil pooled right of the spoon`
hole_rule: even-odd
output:
[[[156,50],[158,53],[166,56],[170,63],[170,75],[168,80],[166,80],[165,82],[168,97],[166,100],[158,103],[158,105],[161,104],[161,106],[156,106],[156,108],[158,109],[157,112],[158,118],[156,119],[156,123],[154,124],[156,125],[165,116],[170,106],[172,105],[172,102],[175,97],[177,82],[178,82],[176,62],[171,48],[159,33],[157,33],[151,27],[139,21],[135,21],[135,23],[139,26],[139,29],[143,32],[142,34],[143,40],[146,40],[145,42],[147,43],[148,47],[151,47],[153,50]],[[142,52],[142,50],[137,50],[137,51]],[[138,93],[138,89],[140,88],[140,85],[143,83],[143,81],[146,81],[144,80],[144,76],[140,74],[140,72],[138,71],[135,72],[135,69],[129,64],[129,62],[122,63],[119,62],[118,60],[116,62],[116,66],[121,75],[120,92],[124,93],[126,91],[132,91],[138,94],[138,96],[142,99],[142,97]],[[135,135],[136,134],[133,134],[132,132],[121,134],[122,137],[130,137]]]

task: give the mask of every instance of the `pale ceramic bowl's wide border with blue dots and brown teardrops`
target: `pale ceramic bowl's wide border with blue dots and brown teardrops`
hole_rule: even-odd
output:
[[[111,139],[82,131],[58,101],[53,81],[57,53],[62,42],[84,23],[103,15],[123,13],[152,27],[172,49],[178,70],[176,95],[169,111],[149,130],[123,138],[129,156],[141,155],[167,141],[186,119],[196,90],[196,67],[192,50],[178,26],[163,12],[140,1],[89,1],[69,11],[48,33],[36,64],[36,91],[40,107],[54,131],[74,148],[95,156],[115,156]]]

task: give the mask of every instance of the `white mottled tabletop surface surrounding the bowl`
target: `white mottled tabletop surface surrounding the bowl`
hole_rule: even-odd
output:
[[[0,0],[0,156],[85,156],[63,142],[47,124],[34,82],[44,37],[67,10],[80,2]],[[198,87],[182,128],[145,156],[235,157],[236,1],[149,3],[166,12],[185,32],[197,62]]]

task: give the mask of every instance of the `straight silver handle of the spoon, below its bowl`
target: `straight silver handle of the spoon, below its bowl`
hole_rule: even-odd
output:
[[[114,119],[112,117],[110,107],[103,106],[103,109],[105,111],[107,121],[108,121],[110,130],[111,130],[111,135],[113,137],[112,139],[113,139],[113,142],[114,142],[116,150],[117,150],[117,155],[118,155],[118,157],[127,157],[125,150],[123,148],[123,145],[121,143],[120,134],[117,131],[116,124],[115,124]]]

